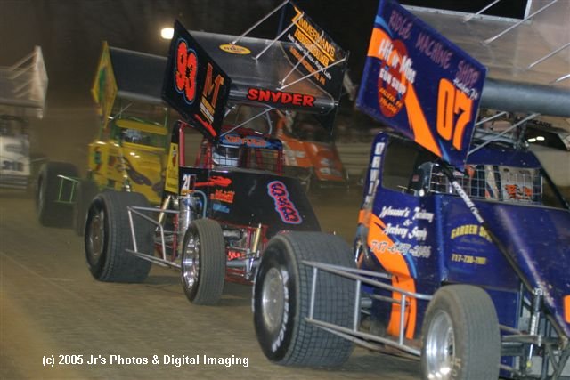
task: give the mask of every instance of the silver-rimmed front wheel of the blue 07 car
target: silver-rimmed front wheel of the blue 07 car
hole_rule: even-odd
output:
[[[501,333],[491,297],[470,285],[440,288],[422,327],[422,378],[496,379],[500,361]]]

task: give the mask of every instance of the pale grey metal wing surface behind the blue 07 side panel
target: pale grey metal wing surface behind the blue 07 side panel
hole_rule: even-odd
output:
[[[529,4],[525,20],[407,9],[483,63],[488,77],[570,89],[570,2]]]

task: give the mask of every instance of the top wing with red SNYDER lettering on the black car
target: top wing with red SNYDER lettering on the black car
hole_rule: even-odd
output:
[[[226,77],[224,83],[229,93],[227,99],[220,99],[218,104],[244,103],[265,109],[313,113],[322,117],[323,125],[331,130],[348,53],[292,2],[282,3],[274,12],[280,8],[283,11],[281,20],[286,26],[273,40],[246,36],[251,29],[242,36],[229,36],[183,30],[176,22],[164,99],[186,118],[199,115],[196,109],[191,109],[191,101],[180,101],[183,92],[175,89],[176,66],[183,63],[176,61],[176,46],[182,36],[190,42],[188,49],[200,52],[195,61],[196,72],[202,70],[200,67],[212,64],[218,68],[216,72]],[[185,70],[184,75],[190,75],[191,69]],[[207,79],[196,78],[197,85],[200,80]],[[221,125],[217,121],[210,124],[212,130],[207,136],[216,138]]]

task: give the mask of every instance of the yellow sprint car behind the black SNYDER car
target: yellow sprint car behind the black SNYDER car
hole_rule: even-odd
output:
[[[174,117],[160,99],[166,61],[103,43],[92,88],[101,124],[88,145],[85,177],[74,163],[47,161],[41,166],[36,206],[42,225],[72,227],[82,235],[87,207],[101,191],[134,191],[152,205],[160,204],[168,125]]]

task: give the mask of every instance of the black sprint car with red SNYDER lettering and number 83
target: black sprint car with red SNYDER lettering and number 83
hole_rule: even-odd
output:
[[[85,255],[95,279],[140,282],[157,263],[180,270],[191,303],[215,304],[225,279],[252,282],[273,236],[320,230],[301,183],[282,175],[283,146],[271,135],[290,111],[330,131],[346,52],[294,4],[283,14],[289,33],[274,41],[189,32],[176,21],[163,98],[183,119],[173,127],[162,203],[117,191],[94,198]],[[331,50],[318,68],[307,29]]]

